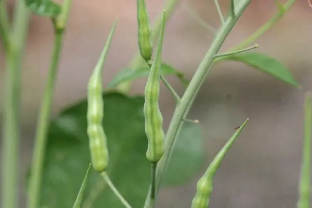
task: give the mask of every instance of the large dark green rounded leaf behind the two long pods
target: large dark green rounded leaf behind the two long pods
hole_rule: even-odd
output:
[[[150,163],[146,159],[147,138],[144,131],[144,97],[127,97],[116,92],[103,94],[103,127],[108,139],[110,164],[107,173],[118,191],[134,207],[143,207],[150,186]],[[63,112],[51,123],[46,145],[43,168],[40,207],[72,207],[85,175],[85,166],[90,163],[87,129],[86,99]],[[192,140],[197,140],[192,137]],[[181,137],[179,143],[185,139]],[[180,149],[182,148],[183,149]],[[179,160],[170,171],[181,174],[200,163],[203,158],[185,150],[185,145],[177,144]],[[185,154],[183,154],[185,153]],[[175,158],[175,156],[173,156]],[[197,169],[198,171],[198,169]],[[174,183],[183,184],[192,175],[175,179]],[[29,176],[29,174],[28,174]],[[183,180],[183,181],[182,181]],[[167,180],[167,185],[171,184]],[[90,170],[88,184],[84,191],[82,208],[123,208],[111,189],[106,186],[99,174]]]

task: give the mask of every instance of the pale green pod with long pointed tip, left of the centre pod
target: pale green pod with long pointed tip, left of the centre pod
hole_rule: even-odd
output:
[[[102,126],[104,102],[102,98],[102,68],[106,60],[107,51],[112,41],[117,20],[104,45],[101,57],[91,75],[88,83],[88,110],[87,110],[87,134],[89,137],[89,148],[93,168],[102,172],[108,166],[107,138]]]

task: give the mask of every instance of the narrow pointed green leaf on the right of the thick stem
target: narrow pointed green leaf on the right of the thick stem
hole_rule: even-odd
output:
[[[294,80],[292,73],[281,62],[262,53],[241,53],[228,56],[225,60],[234,60],[253,66],[255,69],[269,74],[285,83],[299,87],[299,84]]]

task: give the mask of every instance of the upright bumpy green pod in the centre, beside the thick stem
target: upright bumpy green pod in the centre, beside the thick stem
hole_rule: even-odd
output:
[[[162,129],[162,115],[159,110],[159,83],[161,51],[165,28],[165,11],[162,19],[162,28],[159,35],[155,60],[151,66],[150,74],[145,86],[145,133],[148,138],[146,157],[151,163],[157,163],[164,153],[164,132]]]

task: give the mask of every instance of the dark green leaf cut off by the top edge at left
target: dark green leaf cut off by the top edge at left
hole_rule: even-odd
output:
[[[30,11],[44,17],[56,17],[61,11],[60,5],[52,0],[25,0],[25,4]]]

